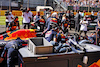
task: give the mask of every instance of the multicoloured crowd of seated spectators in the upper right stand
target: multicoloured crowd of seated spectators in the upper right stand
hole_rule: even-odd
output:
[[[58,0],[66,6],[100,7],[100,0]]]

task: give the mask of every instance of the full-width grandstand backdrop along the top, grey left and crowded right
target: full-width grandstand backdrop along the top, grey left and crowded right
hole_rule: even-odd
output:
[[[20,10],[21,7],[30,7],[31,10],[35,10],[36,6],[44,5],[53,7],[55,11],[100,10],[99,0],[0,0],[0,9],[2,10]]]

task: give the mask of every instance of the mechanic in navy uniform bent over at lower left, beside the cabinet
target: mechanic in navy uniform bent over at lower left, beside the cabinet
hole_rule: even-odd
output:
[[[24,42],[25,41],[21,40],[19,37],[16,40],[9,41],[5,45],[4,50],[1,54],[0,63],[2,63],[2,61],[7,56],[7,67],[15,67],[15,64],[14,64],[14,56],[15,55],[13,53],[14,53],[15,50],[18,51],[18,49],[20,49],[21,47],[24,47],[22,45],[22,43],[24,43]]]

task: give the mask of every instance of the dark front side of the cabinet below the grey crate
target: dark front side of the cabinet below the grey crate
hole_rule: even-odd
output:
[[[19,58],[19,67],[100,67],[100,52],[88,52],[87,64],[83,63],[84,53],[24,56],[21,54]]]

